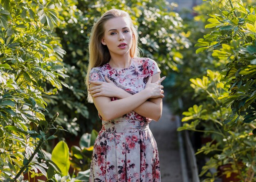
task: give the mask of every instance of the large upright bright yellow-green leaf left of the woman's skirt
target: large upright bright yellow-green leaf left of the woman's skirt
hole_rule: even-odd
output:
[[[70,168],[69,157],[69,149],[64,141],[60,141],[52,150],[52,161],[61,169],[63,175],[68,175]]]

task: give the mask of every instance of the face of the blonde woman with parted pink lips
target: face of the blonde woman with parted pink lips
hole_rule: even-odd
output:
[[[104,24],[105,32],[101,43],[108,47],[110,56],[129,54],[132,47],[132,31],[127,18],[118,17]]]

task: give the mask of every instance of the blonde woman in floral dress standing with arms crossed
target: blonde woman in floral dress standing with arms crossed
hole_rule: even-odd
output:
[[[94,143],[90,182],[160,182],[157,144],[148,127],[164,97],[155,61],[138,57],[137,31],[125,11],[94,23],[85,83],[102,129]]]

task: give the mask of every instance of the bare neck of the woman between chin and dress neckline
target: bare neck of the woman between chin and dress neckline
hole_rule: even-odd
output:
[[[130,54],[126,54],[126,55],[115,55],[115,56],[111,56],[110,61],[108,62],[108,64],[112,67],[112,68],[129,68],[130,64],[131,64],[131,57]]]

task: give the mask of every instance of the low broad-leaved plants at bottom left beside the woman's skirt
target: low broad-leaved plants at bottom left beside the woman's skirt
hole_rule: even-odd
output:
[[[49,168],[47,178],[54,182],[72,181],[72,182],[88,182],[90,174],[90,163],[92,158],[93,145],[98,132],[92,130],[91,134],[84,134],[80,139],[80,147],[72,146],[71,153],[64,141],[60,141],[52,151],[52,161],[56,164],[57,169]],[[89,147],[84,147],[89,146]],[[77,172],[77,175],[70,175],[68,170],[72,168]]]

